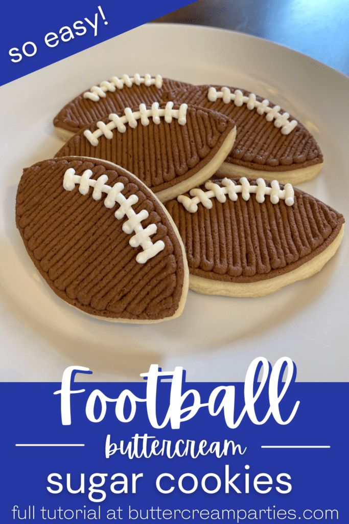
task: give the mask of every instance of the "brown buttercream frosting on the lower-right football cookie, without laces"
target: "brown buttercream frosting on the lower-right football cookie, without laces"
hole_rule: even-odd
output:
[[[221,185],[221,179],[214,181]],[[254,180],[249,182],[255,185]],[[266,184],[270,187],[270,182]],[[177,200],[165,205],[182,237],[190,274],[245,283],[296,269],[339,234],[343,215],[299,189],[294,200],[291,206],[283,200],[272,204],[266,196],[258,203],[255,194],[247,201],[239,194],[235,202],[228,196],[224,203],[212,198],[211,209],[199,203],[195,213]]]

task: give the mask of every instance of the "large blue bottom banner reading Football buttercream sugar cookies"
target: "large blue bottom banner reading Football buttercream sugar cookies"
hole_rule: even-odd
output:
[[[143,383],[72,367],[0,384],[0,521],[346,524],[349,384],[251,366],[237,384],[157,366]]]

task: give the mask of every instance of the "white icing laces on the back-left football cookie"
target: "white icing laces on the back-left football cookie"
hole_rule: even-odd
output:
[[[83,97],[93,102],[98,102],[99,99],[107,96],[107,91],[114,93],[116,89],[123,89],[125,85],[127,88],[131,88],[133,84],[144,84],[147,88],[150,85],[155,85],[157,89],[160,89],[162,88],[162,77],[160,74],[157,74],[156,77],[152,77],[150,74],[145,74],[144,77],[141,77],[138,73],[133,77],[129,77],[128,74],[123,74],[121,78],[112,77],[110,80],[100,82],[99,85],[93,85],[89,91],[83,94]]]

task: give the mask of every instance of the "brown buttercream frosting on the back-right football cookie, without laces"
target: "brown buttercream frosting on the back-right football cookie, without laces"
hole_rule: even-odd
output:
[[[258,171],[289,171],[323,162],[316,140],[299,121],[289,135],[283,135],[280,128],[274,126],[273,121],[268,122],[265,115],[259,115],[255,109],[249,110],[246,104],[239,107],[234,102],[226,104],[220,98],[216,102],[210,102],[207,97],[210,87],[220,91],[223,86],[187,86],[164,93],[163,100],[173,100],[176,103],[186,101],[188,104],[206,107],[232,118],[237,125],[237,138],[226,162]],[[240,88],[229,89],[234,92]],[[250,94],[250,91],[241,91],[244,96]],[[256,100],[262,102],[263,97],[256,96]],[[271,107],[274,105],[269,103]],[[292,119],[294,117],[290,115],[289,121]]]

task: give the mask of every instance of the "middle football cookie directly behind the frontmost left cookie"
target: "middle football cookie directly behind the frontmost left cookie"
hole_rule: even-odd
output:
[[[95,122],[55,156],[114,162],[165,202],[208,180],[231,151],[235,135],[234,121],[216,111],[154,102]]]

